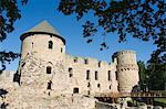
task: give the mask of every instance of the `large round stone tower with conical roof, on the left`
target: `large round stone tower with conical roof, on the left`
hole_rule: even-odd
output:
[[[22,41],[19,72],[21,87],[63,92],[68,74],[65,40],[43,21],[20,36]]]

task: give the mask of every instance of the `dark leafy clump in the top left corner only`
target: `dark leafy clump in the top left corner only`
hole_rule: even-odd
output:
[[[0,41],[2,42],[8,33],[14,28],[13,23],[21,18],[15,0],[0,0]]]

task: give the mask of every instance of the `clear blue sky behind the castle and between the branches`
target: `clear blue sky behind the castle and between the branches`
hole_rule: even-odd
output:
[[[18,0],[19,1],[19,0]],[[142,42],[141,40],[127,36],[127,42],[118,43],[116,34],[107,34],[106,42],[108,50],[100,51],[102,33],[95,34],[94,42],[87,44],[82,36],[82,24],[86,19],[93,20],[92,14],[76,21],[75,15],[63,15],[58,8],[59,0],[29,0],[27,6],[19,4],[22,18],[14,23],[15,30],[8,34],[0,48],[3,51],[20,52],[20,35],[33,28],[43,20],[48,20],[55,30],[58,30],[66,40],[66,53],[73,56],[94,57],[101,61],[110,62],[112,54],[121,50],[134,50],[137,53],[137,59],[146,62],[155,46],[153,42]],[[7,66],[8,70],[17,70],[19,59]]]

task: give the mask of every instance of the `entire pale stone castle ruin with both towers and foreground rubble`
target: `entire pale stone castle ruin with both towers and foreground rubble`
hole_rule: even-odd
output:
[[[96,94],[131,92],[138,84],[134,51],[115,53],[110,64],[71,56],[65,40],[46,21],[20,39],[18,72],[0,75],[0,88],[8,91],[0,103],[9,109],[94,109]]]

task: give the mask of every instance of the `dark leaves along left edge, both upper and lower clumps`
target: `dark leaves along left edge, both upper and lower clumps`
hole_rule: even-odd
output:
[[[27,0],[22,0],[24,3]],[[17,0],[0,0],[0,42],[7,39],[7,34],[14,30],[14,22],[21,18],[20,10],[18,9]],[[1,69],[6,69],[6,63],[10,63],[19,57],[19,53],[0,51]]]

